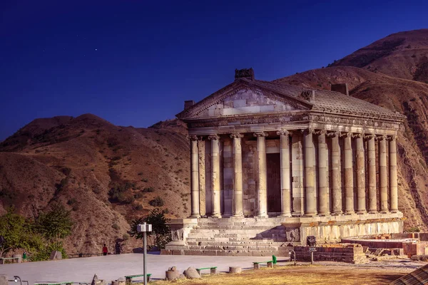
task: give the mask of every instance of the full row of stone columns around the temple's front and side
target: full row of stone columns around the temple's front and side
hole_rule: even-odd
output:
[[[300,134],[298,138],[293,138],[293,133],[296,132],[300,132]],[[253,133],[253,136],[257,140],[258,217],[267,217],[267,161],[265,143],[267,135],[267,132]],[[398,211],[397,142],[395,136],[327,132],[325,130],[312,129],[278,130],[276,135],[280,137],[281,216],[304,215],[305,217],[312,217],[315,215],[326,216],[330,214],[365,214],[367,212],[387,213]],[[297,139],[301,140],[300,142],[304,146],[302,147],[303,165],[299,165],[300,162],[295,160],[294,155],[290,157],[290,135],[293,138],[293,142]],[[233,139],[233,216],[243,217],[243,152],[241,147],[243,134],[232,133],[229,136]],[[315,136],[317,136],[317,140],[314,140]],[[342,147],[340,145],[340,137],[344,140]],[[190,135],[189,138],[191,143],[191,217],[200,217],[198,140],[201,137]],[[205,136],[205,138],[207,137]],[[212,217],[221,217],[220,137],[219,135],[208,135],[208,140],[210,140],[211,154],[210,185],[213,187],[211,215]],[[327,147],[327,140],[330,140],[328,143],[329,147]],[[355,143],[352,143],[352,140],[355,140]],[[364,143],[364,140],[367,140],[367,144]],[[375,141],[379,143],[377,153]],[[317,145],[315,145],[315,142]],[[387,143],[389,147],[387,147]],[[355,146],[355,152],[352,150],[353,145]],[[328,148],[330,148],[330,157]],[[387,155],[387,149],[389,150],[389,155]],[[365,155],[365,152],[367,152],[367,155]],[[387,157],[389,157],[389,163],[387,163]],[[379,166],[379,209],[377,207],[377,159]],[[355,162],[356,170],[354,170],[353,162]],[[388,165],[389,169],[387,168]],[[303,177],[300,180],[299,187],[302,187],[303,192],[302,196],[294,197],[295,171],[292,171],[292,169],[297,169],[301,166],[303,168]],[[366,166],[367,174],[365,170]],[[343,183],[342,177],[344,179]],[[388,177],[389,183],[387,181]],[[354,201],[355,197],[357,201]],[[342,199],[345,199],[345,201],[342,201]],[[293,202],[294,200],[297,202]],[[301,204],[295,207],[295,203]]]

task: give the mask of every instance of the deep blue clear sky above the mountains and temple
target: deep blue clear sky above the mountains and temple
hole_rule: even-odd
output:
[[[35,118],[148,127],[253,67],[273,80],[398,31],[427,1],[0,1],[0,141]]]

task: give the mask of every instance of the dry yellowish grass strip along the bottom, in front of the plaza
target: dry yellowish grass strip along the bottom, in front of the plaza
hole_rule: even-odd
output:
[[[350,266],[278,266],[274,269],[246,270],[242,274],[203,275],[202,279],[157,281],[163,284],[282,285],[282,284],[388,284],[412,269],[359,269]]]

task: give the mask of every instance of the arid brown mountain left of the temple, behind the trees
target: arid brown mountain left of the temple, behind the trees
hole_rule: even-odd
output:
[[[158,196],[170,217],[188,216],[185,133],[178,120],[147,129],[91,114],[34,120],[0,145],[0,212],[14,204],[31,217],[61,202],[76,222],[69,253],[101,252],[103,242],[126,239],[128,221],[153,209]]]

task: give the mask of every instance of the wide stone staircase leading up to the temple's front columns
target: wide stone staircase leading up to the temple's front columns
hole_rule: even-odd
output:
[[[288,256],[284,227],[275,218],[206,218],[190,230],[175,254],[208,256]]]

